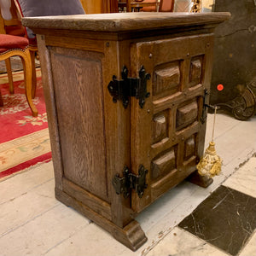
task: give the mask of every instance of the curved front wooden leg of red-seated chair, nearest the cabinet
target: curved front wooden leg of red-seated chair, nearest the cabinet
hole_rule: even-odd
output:
[[[38,116],[38,109],[35,107],[32,102],[32,61],[30,57],[29,49],[26,49],[24,52],[25,56],[22,59],[23,68],[24,68],[24,81],[25,81],[25,93],[26,100],[29,107],[32,110],[32,116]]]

